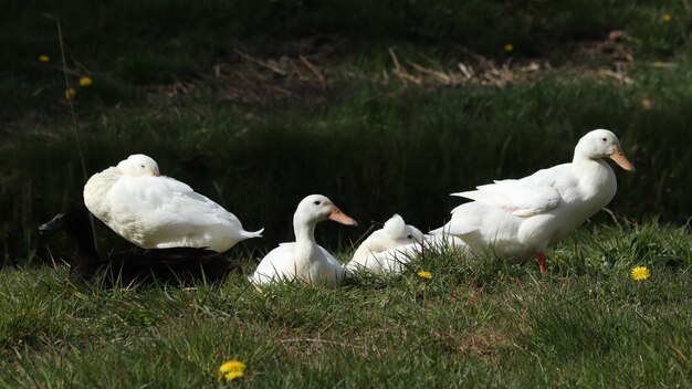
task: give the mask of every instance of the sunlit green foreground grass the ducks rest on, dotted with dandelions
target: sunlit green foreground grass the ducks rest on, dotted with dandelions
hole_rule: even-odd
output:
[[[241,274],[102,291],[63,266],[6,269],[0,382],[213,387],[238,359],[250,387],[690,387],[688,228],[587,225],[548,261],[542,277],[533,261],[450,251],[391,281],[265,292]],[[631,280],[637,265],[651,277]]]

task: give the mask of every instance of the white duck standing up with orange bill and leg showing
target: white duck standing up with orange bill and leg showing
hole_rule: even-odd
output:
[[[615,134],[595,129],[579,139],[570,164],[452,193],[475,201],[457,207],[450,222],[431,233],[460,238],[476,253],[492,246],[503,256],[535,254],[546,274],[545,250],[615,197],[617,180],[606,157],[635,171]]]

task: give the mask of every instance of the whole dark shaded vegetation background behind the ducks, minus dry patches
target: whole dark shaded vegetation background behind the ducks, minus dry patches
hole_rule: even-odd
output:
[[[423,230],[439,227],[459,202],[449,192],[568,161],[576,140],[598,127],[620,136],[638,168],[617,172],[616,213],[677,223],[692,214],[685,1],[9,0],[0,7],[6,262],[34,259],[44,243],[35,227],[78,201],[85,180],[63,97],[55,17],[71,83],[94,80],[74,102],[87,175],[148,154],[165,175],[219,201],[249,229],[266,228],[265,240],[250,246],[291,239],[295,204],[313,192],[361,222],[348,235],[321,228],[321,240],[355,240],[370,220],[394,212]],[[585,42],[614,31],[632,56],[628,82],[583,71],[619,70],[607,56],[578,54]],[[209,76],[218,64],[244,63],[239,53],[298,61],[325,45],[324,71],[333,81],[317,92],[294,91],[297,97],[281,104],[229,101],[221,81]],[[417,85],[392,75],[391,48],[402,61],[440,69],[479,56],[499,67],[549,66],[502,86]],[[42,54],[51,61],[39,62]],[[170,93],[179,85],[185,93]],[[116,241],[105,230],[99,235],[106,246]]]

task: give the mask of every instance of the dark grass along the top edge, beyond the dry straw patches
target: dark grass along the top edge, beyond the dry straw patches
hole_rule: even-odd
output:
[[[52,82],[38,72],[38,53],[60,57],[54,18],[64,25],[70,57],[107,86],[101,91],[107,103],[132,97],[133,85],[192,76],[239,48],[297,54],[301,48],[287,50],[286,42],[306,36],[338,35],[348,42],[346,54],[413,44],[503,57],[505,43],[515,55],[545,56],[621,30],[638,56],[661,59],[689,57],[692,28],[686,1],[654,0],[7,0],[0,7],[0,114],[50,103],[33,92]]]

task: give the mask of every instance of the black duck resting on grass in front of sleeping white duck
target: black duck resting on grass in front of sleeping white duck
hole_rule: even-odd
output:
[[[241,263],[221,254],[193,248],[122,251],[98,255],[93,241],[92,224],[85,208],[73,208],[41,224],[39,231],[65,231],[77,251],[70,263],[70,280],[105,286],[161,282],[195,284],[222,281]]]

